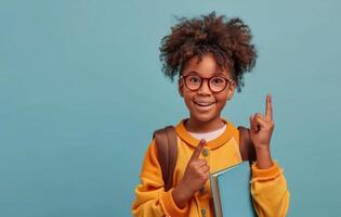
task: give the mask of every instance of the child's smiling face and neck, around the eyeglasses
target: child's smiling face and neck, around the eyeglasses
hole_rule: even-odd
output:
[[[211,78],[220,76],[232,78],[227,68],[221,69],[215,62],[214,55],[208,53],[202,56],[200,62],[197,58],[191,59],[182,71],[182,76],[197,75],[201,78]],[[184,98],[185,104],[189,111],[189,119],[186,122],[186,128],[189,131],[205,132],[212,131],[222,127],[220,118],[221,111],[226,101],[232,99],[235,85],[229,84],[218,93],[210,90],[208,79],[204,79],[201,87],[196,90],[189,90],[184,79],[179,80],[179,92]]]

